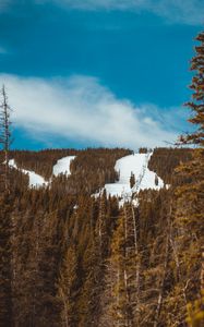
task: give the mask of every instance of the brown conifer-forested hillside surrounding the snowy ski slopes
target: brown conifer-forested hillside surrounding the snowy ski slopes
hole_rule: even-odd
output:
[[[156,149],[151,169],[180,184],[173,169],[191,153]],[[27,177],[10,169],[11,192],[1,197],[1,274],[8,276],[1,326],[182,326],[200,268],[191,266],[190,274],[179,265],[173,184],[135,194],[139,206],[119,207],[106,193],[92,196],[117,181],[116,160],[130,154],[10,153],[20,167],[45,177],[64,155],[76,158],[71,175],[56,177],[49,187],[28,189]]]

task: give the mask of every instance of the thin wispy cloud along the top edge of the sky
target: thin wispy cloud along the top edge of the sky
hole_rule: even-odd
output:
[[[56,2],[70,9],[149,11],[168,22],[200,25],[204,23],[203,0],[36,0]]]

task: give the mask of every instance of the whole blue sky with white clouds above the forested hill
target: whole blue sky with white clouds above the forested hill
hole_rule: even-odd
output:
[[[197,0],[1,0],[13,147],[173,142],[203,22]]]

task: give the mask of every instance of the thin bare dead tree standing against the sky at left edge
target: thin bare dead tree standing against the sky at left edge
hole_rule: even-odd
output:
[[[0,105],[0,144],[4,153],[4,190],[9,191],[9,150],[11,141],[11,108],[8,104],[8,96],[4,85],[1,88],[1,105]]]

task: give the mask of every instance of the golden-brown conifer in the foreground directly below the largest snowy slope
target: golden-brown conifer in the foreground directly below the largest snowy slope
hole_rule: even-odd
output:
[[[106,320],[110,326],[139,325],[140,253],[135,219],[132,205],[124,204],[108,259]]]

